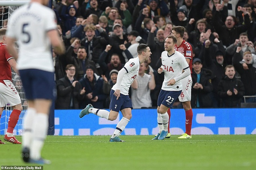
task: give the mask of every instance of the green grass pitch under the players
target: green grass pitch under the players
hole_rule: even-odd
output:
[[[47,136],[42,156],[52,161],[44,170],[256,170],[256,135],[192,135],[162,141],[153,135]],[[4,136],[0,136],[2,141]],[[16,136],[21,141],[21,136]],[[0,165],[25,164],[21,145],[0,145]]]

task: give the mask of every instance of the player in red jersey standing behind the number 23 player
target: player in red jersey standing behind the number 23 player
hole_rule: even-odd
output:
[[[175,50],[180,52],[186,58],[188,62],[190,72],[192,74],[192,59],[193,59],[193,50],[191,45],[183,40],[185,28],[182,26],[174,26],[171,35],[177,38],[177,43],[174,46]],[[191,86],[192,86],[192,78],[191,75],[187,76],[186,78],[182,79],[182,92],[179,96],[180,102],[182,102],[183,108],[186,113],[186,132],[182,134],[182,136],[178,137],[178,139],[188,139],[192,138],[191,136],[191,126],[192,126],[192,118],[193,118],[193,111],[191,108],[190,100],[191,100]],[[169,118],[170,118],[170,110],[167,111]],[[169,121],[170,122],[170,121]],[[168,125],[169,127],[169,125]]]

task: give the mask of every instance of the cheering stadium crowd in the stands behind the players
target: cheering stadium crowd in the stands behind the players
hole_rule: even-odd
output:
[[[139,43],[149,44],[151,61],[129,95],[134,108],[157,107],[156,70],[173,26],[186,28],[193,48],[193,108],[241,107],[244,95],[256,95],[256,0],[58,0],[52,8],[66,46],[64,55],[53,51],[56,109],[108,108],[118,71]]]

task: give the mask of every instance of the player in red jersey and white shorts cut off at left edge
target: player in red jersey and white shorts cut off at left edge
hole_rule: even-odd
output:
[[[8,120],[8,128],[4,140],[21,144],[14,136],[13,129],[16,126],[22,111],[20,96],[12,83],[12,69],[16,72],[16,61],[6,49],[6,28],[0,29],[0,118],[5,106],[12,106],[13,111]],[[0,144],[4,144],[0,140]]]

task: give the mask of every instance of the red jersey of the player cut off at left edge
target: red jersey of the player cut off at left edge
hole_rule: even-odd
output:
[[[0,43],[0,80],[12,81],[12,70],[8,60],[12,57],[6,49],[6,44]]]

